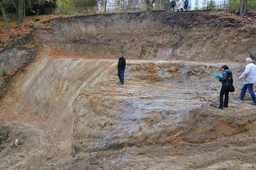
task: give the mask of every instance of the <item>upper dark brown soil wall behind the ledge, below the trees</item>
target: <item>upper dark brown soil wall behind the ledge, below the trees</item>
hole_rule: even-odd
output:
[[[169,11],[57,18],[55,31],[37,34],[42,42],[92,56],[121,51],[140,59],[241,61],[255,57],[256,30],[239,31],[238,21],[216,18]]]

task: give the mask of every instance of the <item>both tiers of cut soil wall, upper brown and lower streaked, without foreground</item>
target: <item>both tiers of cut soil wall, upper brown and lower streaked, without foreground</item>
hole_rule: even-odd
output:
[[[16,99],[23,97],[33,113],[71,137],[73,155],[172,141],[204,143],[248,131],[253,127],[247,126],[247,111],[253,108],[243,106],[247,111],[239,119],[209,112],[218,98],[211,88],[220,87],[214,75],[227,64],[238,78],[239,62],[255,57],[255,30],[239,31],[235,21],[218,24],[214,19],[167,11],[55,18],[52,29],[34,31],[35,60],[28,71],[14,75],[3,101],[19,115]],[[54,58],[49,53],[55,45],[94,57],[67,53]],[[0,54],[3,59],[17,56],[15,62],[1,61],[4,66],[26,55],[12,51]],[[116,82],[117,59],[108,58],[120,51],[127,57],[124,86]]]

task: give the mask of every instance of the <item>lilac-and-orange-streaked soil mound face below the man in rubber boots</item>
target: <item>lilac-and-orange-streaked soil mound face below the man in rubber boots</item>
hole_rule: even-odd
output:
[[[237,64],[229,64],[236,73],[234,79],[241,73]],[[209,88],[218,69],[214,63],[128,61],[125,73],[129,81],[124,87],[116,87],[117,79],[110,76],[77,97],[72,153],[167,145],[172,140],[204,143],[248,131],[246,116],[239,115],[238,123],[236,116],[222,118],[200,110],[218,96]],[[255,121],[255,117],[250,118]]]

